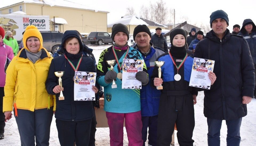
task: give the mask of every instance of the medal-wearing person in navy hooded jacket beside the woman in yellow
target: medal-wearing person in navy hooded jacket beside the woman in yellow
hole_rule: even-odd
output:
[[[60,144],[88,145],[91,120],[94,117],[93,104],[91,101],[74,101],[75,70],[71,66],[78,66],[77,71],[96,72],[93,59],[82,55],[82,41],[75,30],[67,30],[62,38],[61,48],[64,55],[55,57],[50,65],[49,75],[46,81],[46,89],[49,94],[56,95],[56,126]],[[70,61],[70,62],[69,62]],[[54,72],[64,71],[62,89],[58,85],[58,77]],[[63,91],[64,100],[59,100],[59,92]],[[93,86],[95,94],[97,87]]]

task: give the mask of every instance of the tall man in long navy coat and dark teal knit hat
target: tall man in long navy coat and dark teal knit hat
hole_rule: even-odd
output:
[[[247,115],[255,87],[254,64],[247,41],[227,29],[229,18],[223,10],[210,15],[212,30],[197,43],[194,57],[215,61],[216,81],[204,91],[204,110],[208,124],[208,145],[220,145],[222,120],[227,125],[227,145],[241,141],[242,117]]]

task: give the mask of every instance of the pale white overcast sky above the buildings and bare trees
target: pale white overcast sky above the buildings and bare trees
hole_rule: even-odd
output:
[[[21,2],[22,0],[3,0],[1,7],[8,6],[12,3]],[[52,0],[54,1],[54,0]],[[89,6],[97,10],[108,11],[107,21],[111,23],[120,19],[126,14],[127,7],[134,7],[135,13],[139,15],[142,5],[149,6],[149,2],[155,3],[157,0],[69,0],[82,5]],[[223,10],[229,17],[229,30],[233,29],[233,25],[239,24],[242,27],[244,19],[252,19],[256,23],[256,1],[254,0],[163,0],[168,8],[175,9],[175,23],[181,23],[186,20],[181,19],[182,16],[188,18],[188,23],[209,24],[211,12]]]

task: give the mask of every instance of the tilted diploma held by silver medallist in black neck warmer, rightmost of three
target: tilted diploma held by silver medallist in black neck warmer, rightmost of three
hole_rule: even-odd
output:
[[[211,80],[208,73],[213,72],[213,67],[214,60],[194,58],[189,86],[210,90]]]

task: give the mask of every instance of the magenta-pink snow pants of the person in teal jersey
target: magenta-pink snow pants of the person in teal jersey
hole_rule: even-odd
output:
[[[129,144],[128,146],[142,146],[142,121],[141,111],[134,113],[106,112],[107,123],[110,131],[110,146],[123,146],[123,121]]]

